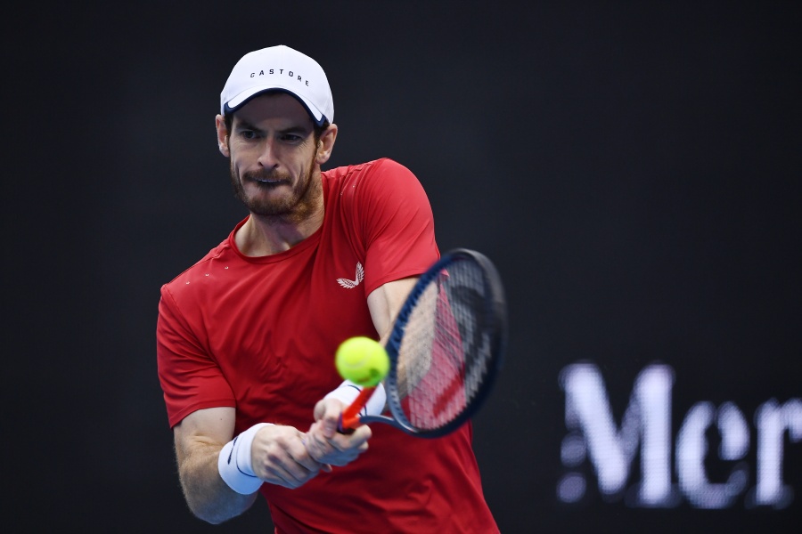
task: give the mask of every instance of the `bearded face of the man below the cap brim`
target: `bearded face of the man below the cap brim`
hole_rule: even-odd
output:
[[[312,120],[291,95],[249,101],[235,112],[228,136],[235,196],[253,214],[303,220],[322,201],[315,144]]]

